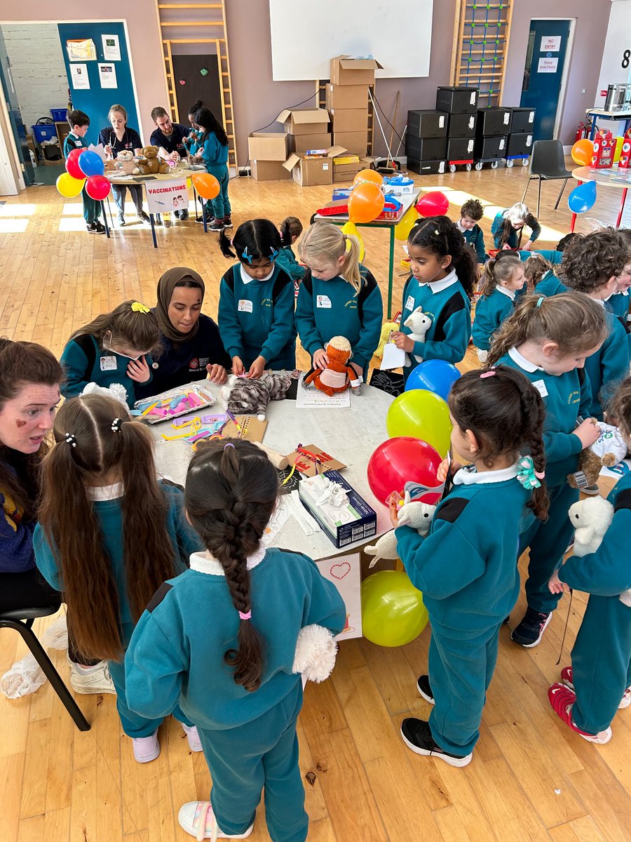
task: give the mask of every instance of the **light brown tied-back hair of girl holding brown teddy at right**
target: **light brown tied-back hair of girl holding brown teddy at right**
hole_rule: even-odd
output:
[[[515,310],[495,333],[487,365],[528,340],[559,346],[559,354],[581,354],[602,344],[607,336],[605,311],[580,292],[562,292],[545,298],[533,293],[517,301]]]

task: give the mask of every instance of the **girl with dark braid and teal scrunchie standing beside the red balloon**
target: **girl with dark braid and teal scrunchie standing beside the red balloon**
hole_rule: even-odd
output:
[[[391,510],[399,557],[432,622],[428,674],[417,682],[432,713],[429,722],[404,719],[401,734],[417,754],[465,766],[480,737],[500,628],[519,594],[522,517],[528,505],[544,518],[548,499],[543,407],[526,377],[505,366],[468,371],[453,384],[448,403],[453,449],[473,464],[452,464],[453,488],[437,505],[426,538],[397,525]],[[519,456],[524,447],[533,458]],[[404,506],[400,522],[406,515]]]

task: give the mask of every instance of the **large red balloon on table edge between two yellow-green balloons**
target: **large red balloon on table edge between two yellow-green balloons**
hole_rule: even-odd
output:
[[[369,459],[370,490],[381,503],[386,504],[390,493],[398,491],[403,496],[406,482],[417,482],[428,489],[437,489],[417,499],[422,503],[436,503],[443,493],[443,488],[438,488],[441,483],[436,478],[442,461],[432,445],[409,435],[384,441]]]

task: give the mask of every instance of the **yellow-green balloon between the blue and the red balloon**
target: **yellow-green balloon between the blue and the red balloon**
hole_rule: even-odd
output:
[[[391,439],[411,435],[432,445],[441,456],[447,456],[452,430],[449,409],[443,398],[433,392],[411,389],[395,397],[385,427]]]

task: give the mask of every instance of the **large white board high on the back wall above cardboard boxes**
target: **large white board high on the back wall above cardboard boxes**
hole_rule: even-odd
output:
[[[329,61],[372,55],[377,77],[429,76],[433,0],[269,0],[274,82],[328,79]]]

